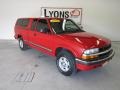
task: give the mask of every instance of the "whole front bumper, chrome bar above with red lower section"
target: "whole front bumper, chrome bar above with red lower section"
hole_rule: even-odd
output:
[[[94,69],[97,67],[102,66],[102,64],[104,64],[105,62],[109,61],[112,59],[112,57],[114,56],[115,52],[112,51],[112,53],[103,59],[99,59],[99,60],[94,60],[94,61],[85,61],[85,60],[81,60],[76,58],[76,66],[78,69],[80,70],[90,70],[90,69]]]

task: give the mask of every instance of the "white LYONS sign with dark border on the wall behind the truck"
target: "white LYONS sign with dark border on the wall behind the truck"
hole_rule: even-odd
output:
[[[42,7],[41,16],[55,18],[70,18],[76,23],[81,24],[82,8]]]

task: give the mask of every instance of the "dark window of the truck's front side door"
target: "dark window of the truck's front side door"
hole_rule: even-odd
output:
[[[48,30],[48,23],[47,23],[47,20],[45,19],[40,19],[38,20],[38,23],[36,25],[36,29],[38,32],[43,32],[43,30]]]

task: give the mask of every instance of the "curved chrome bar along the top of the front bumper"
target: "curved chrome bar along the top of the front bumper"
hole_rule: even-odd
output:
[[[104,59],[96,60],[96,61],[84,61],[84,60],[81,60],[81,59],[78,59],[78,58],[76,58],[75,60],[78,61],[78,62],[80,62],[80,63],[82,63],[82,64],[87,64],[87,65],[89,65],[89,64],[95,64],[95,63],[107,61],[107,60],[109,60],[110,58],[112,58],[112,57],[114,56],[114,54],[115,54],[115,52],[113,51],[113,52],[110,54],[110,56],[108,56],[108,57],[106,57],[106,58],[104,58]]]

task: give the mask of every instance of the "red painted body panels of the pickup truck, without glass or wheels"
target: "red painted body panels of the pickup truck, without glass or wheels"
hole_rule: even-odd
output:
[[[21,36],[23,40],[27,41],[26,44],[32,48],[53,56],[55,56],[56,49],[61,47],[69,50],[75,56],[75,58],[81,58],[81,55],[86,49],[101,48],[111,43],[110,40],[104,37],[88,32],[55,34],[50,27],[50,23],[48,23],[51,31],[49,34],[41,33],[36,30],[32,31],[31,24],[33,19],[34,18],[29,18],[29,25],[25,28],[15,25],[15,38],[18,39],[19,36]],[[46,20],[49,20],[49,18],[46,18]],[[48,50],[37,47],[29,42],[43,46]],[[91,70],[101,65],[101,63],[96,65],[76,64],[77,69],[81,70]]]

